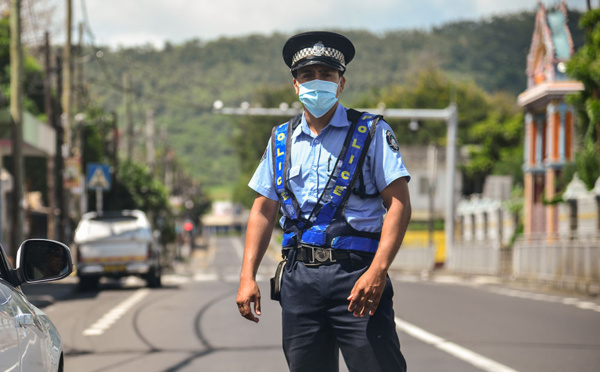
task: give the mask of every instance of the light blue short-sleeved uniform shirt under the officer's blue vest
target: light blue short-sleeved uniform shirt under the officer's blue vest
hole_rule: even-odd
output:
[[[309,217],[334,170],[351,125],[346,110],[338,104],[331,121],[318,136],[311,132],[304,115],[302,122],[292,133],[288,187],[295,195],[304,218]],[[248,186],[269,199],[279,200],[275,191],[271,146],[269,140],[265,155]],[[383,120],[377,124],[362,172],[367,194],[381,191],[401,177],[410,180],[394,133]],[[346,219],[352,227],[369,232],[381,231],[385,213],[381,197],[361,199],[354,194],[350,195],[345,211]]]

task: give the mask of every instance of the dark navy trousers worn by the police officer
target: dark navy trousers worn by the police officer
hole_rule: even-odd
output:
[[[354,317],[350,295],[371,258],[320,266],[288,262],[282,279],[283,349],[292,372],[337,372],[339,351],[350,372],[404,372],[390,279],[373,316]]]

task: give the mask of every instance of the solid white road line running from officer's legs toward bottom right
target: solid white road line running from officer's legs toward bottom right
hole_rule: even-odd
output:
[[[503,364],[500,364],[494,360],[484,357],[483,355],[479,355],[469,349],[466,349],[462,346],[459,346],[450,341],[444,340],[443,338],[434,335],[433,333],[429,333],[424,329],[421,329],[413,324],[410,324],[402,319],[395,318],[396,327],[399,330],[408,333],[409,335],[428,343],[442,351],[447,352],[448,354],[461,359],[469,364],[474,365],[475,367],[481,368],[486,372],[518,372],[515,369],[507,367]]]

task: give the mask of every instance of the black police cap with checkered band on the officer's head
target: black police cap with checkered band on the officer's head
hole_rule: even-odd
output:
[[[283,46],[283,60],[294,76],[296,70],[310,65],[325,65],[343,73],[354,52],[354,45],[343,35],[311,31],[288,39]]]

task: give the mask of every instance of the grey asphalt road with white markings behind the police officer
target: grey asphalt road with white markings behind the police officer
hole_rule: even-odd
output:
[[[268,299],[276,257],[259,271],[259,324],[239,316],[239,238],[195,251],[164,287],[131,278],[69,292],[44,308],[65,344],[65,371],[285,371],[279,305]],[[390,273],[411,372],[597,372],[600,300],[542,293],[494,278]],[[46,286],[69,291],[76,279]],[[26,290],[27,291],[27,290]],[[347,371],[341,363],[342,371]]]

